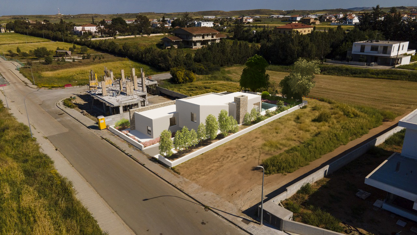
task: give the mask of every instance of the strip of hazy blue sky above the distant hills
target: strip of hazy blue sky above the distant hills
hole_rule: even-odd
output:
[[[3,2],[3,1],[2,1]],[[417,5],[415,0],[5,0],[0,6],[0,15],[76,15],[83,13],[173,13],[204,10],[321,10],[334,8],[354,8]]]

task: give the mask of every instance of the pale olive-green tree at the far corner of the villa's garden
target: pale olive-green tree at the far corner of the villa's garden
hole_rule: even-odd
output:
[[[320,73],[318,61],[306,61],[300,58],[294,63],[292,72],[279,83],[281,93],[286,98],[302,100],[314,87],[314,74]]]

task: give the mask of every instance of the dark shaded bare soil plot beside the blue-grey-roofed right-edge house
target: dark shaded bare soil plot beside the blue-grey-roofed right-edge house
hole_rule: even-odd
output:
[[[314,205],[339,220],[357,227],[364,234],[391,235],[402,231],[401,235],[415,235],[410,228],[416,227],[417,223],[374,207],[373,203],[376,200],[383,200],[387,193],[364,184],[365,177],[392,153],[392,151],[382,150],[364,154],[313,184],[313,188],[317,191],[307,196],[306,200],[304,195],[299,194],[290,199],[297,204],[301,203],[301,213],[303,210],[308,211],[306,209],[308,205]],[[370,192],[371,195],[366,200],[360,199],[355,195],[359,189]],[[396,225],[399,219],[407,222],[407,225],[405,227]],[[302,217],[295,213],[294,220],[301,222]]]

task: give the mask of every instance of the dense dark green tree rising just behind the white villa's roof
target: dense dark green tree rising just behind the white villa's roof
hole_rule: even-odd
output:
[[[254,55],[245,63],[246,67],[240,76],[240,86],[248,88],[251,91],[257,91],[260,88],[267,88],[269,82],[269,75],[266,74],[266,67],[268,63],[264,57]]]

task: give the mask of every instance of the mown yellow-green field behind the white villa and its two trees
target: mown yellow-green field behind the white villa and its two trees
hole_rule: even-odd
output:
[[[171,84],[165,81],[161,86],[191,96],[206,93],[204,91],[211,81],[219,86],[221,84],[216,90],[237,91],[243,68],[244,66],[226,67],[213,75],[197,76],[194,83]],[[271,70],[266,73],[269,74],[269,81],[276,83],[289,74]],[[311,96],[389,110],[397,114],[417,108],[417,82],[322,74],[316,75],[315,81],[316,86],[309,94]]]

